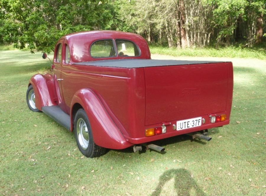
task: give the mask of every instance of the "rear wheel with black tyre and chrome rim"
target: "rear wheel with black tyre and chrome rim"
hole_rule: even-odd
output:
[[[90,121],[83,109],[79,109],[75,115],[74,134],[77,146],[84,156],[93,158],[101,156],[106,152],[106,148],[94,143]]]

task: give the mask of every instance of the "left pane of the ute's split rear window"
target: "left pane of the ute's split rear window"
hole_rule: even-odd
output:
[[[104,58],[116,56],[116,50],[112,40],[100,40],[90,47],[90,55],[93,58]]]

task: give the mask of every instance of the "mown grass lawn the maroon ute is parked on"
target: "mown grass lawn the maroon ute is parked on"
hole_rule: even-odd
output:
[[[0,51],[0,62],[0,195],[266,194],[266,61],[234,66],[231,123],[209,130],[210,142],[182,135],[155,142],[165,154],[129,148],[93,159],[27,107],[30,77],[50,62],[18,50]]]

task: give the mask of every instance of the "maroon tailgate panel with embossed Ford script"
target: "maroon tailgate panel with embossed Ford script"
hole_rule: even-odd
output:
[[[145,67],[145,125],[226,110],[227,63]]]

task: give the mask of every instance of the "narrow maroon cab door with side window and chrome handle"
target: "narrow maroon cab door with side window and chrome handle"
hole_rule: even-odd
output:
[[[53,79],[54,79],[54,84],[55,84],[55,93],[56,93],[56,102],[58,106],[64,111],[66,111],[65,104],[64,104],[64,99],[63,99],[63,91],[62,91],[62,79],[61,79],[61,70],[62,70],[62,52],[63,52],[63,43],[64,39],[61,39],[58,41],[56,44],[56,50],[54,53],[54,58],[53,58]]]

